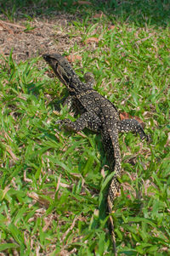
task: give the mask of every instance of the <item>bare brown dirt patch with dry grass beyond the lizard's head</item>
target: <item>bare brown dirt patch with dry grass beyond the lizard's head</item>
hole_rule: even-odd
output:
[[[18,63],[47,53],[69,51],[74,43],[81,43],[81,37],[69,37],[76,17],[71,14],[57,14],[53,20],[34,19],[26,30],[26,20],[10,22],[0,16],[0,54],[8,56],[13,48],[13,59]],[[27,26],[28,28],[28,26]]]

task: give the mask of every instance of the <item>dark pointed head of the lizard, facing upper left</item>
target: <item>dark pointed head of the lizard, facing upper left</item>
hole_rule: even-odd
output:
[[[65,60],[65,57],[60,54],[43,54],[42,57],[52,67],[60,82],[69,87],[74,71],[72,71],[71,65]]]

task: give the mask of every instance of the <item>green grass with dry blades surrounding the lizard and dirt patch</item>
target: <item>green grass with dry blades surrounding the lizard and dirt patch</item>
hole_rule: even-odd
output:
[[[8,20],[78,14],[65,55],[120,112],[139,117],[151,142],[120,134],[122,186],[113,219],[119,255],[170,255],[170,38],[168,1],[3,2]],[[63,3],[67,3],[66,5]],[[35,8],[37,7],[37,9]],[[102,13],[101,13],[102,12]],[[96,15],[99,14],[99,15]],[[95,39],[92,39],[95,38]],[[0,64],[0,255],[113,255],[106,194],[111,173],[99,134],[54,123],[76,120],[65,87],[42,57]]]

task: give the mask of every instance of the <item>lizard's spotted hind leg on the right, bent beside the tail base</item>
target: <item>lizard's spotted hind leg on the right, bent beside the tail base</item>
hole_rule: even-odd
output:
[[[135,119],[124,119],[122,121],[116,121],[114,126],[118,129],[119,133],[135,132],[139,134],[140,139],[146,139],[147,141],[149,140],[149,136],[144,133],[144,129]]]

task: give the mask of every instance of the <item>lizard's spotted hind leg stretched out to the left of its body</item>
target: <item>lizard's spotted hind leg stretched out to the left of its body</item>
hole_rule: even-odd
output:
[[[79,132],[83,128],[88,128],[94,132],[98,132],[101,127],[101,121],[94,113],[85,112],[75,122],[71,122],[70,119],[59,120],[56,124],[65,125],[66,128]]]

